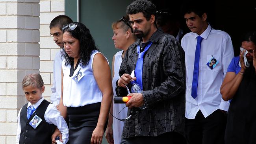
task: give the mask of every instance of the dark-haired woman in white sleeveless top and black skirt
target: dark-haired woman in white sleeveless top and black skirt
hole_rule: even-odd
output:
[[[108,60],[82,23],[63,26],[63,44],[59,111],[69,116],[69,142],[100,144],[113,97]]]

